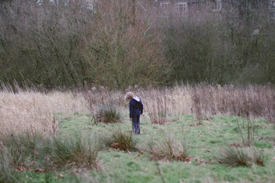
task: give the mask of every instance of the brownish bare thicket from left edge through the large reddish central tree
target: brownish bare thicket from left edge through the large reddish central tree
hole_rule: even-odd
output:
[[[88,8],[87,8],[88,7]],[[45,86],[162,82],[157,30],[133,1],[0,4],[0,77]],[[2,67],[3,66],[3,67]]]

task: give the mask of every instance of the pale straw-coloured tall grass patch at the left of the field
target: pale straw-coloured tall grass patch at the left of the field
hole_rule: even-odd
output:
[[[0,91],[0,136],[5,133],[43,132],[58,130],[55,115],[64,116],[76,110],[87,110],[81,93],[52,91],[43,94],[19,90],[12,93]]]

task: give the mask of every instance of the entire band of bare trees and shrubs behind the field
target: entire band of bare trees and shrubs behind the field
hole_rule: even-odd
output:
[[[178,16],[153,1],[103,0],[93,8],[86,1],[1,1],[0,79],[47,87],[274,84],[275,29],[265,6],[253,4],[245,16],[209,7]]]

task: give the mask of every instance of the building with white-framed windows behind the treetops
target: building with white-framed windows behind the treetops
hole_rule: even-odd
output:
[[[162,16],[168,16],[170,13],[188,16],[204,8],[217,16],[232,12],[243,21],[260,14],[270,21],[275,21],[275,0],[155,0],[155,6]]]

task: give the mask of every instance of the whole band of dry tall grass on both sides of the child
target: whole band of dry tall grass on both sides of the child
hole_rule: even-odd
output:
[[[181,114],[195,114],[198,121],[215,114],[263,117],[272,123],[275,121],[274,86],[199,84],[148,88],[135,93],[142,98],[144,112],[149,114],[152,123],[163,124],[170,117]],[[86,88],[78,92],[52,90],[39,93],[35,89],[17,89],[17,93],[13,93],[8,87],[3,88],[0,90],[0,136],[7,132],[56,132],[56,113],[62,112],[63,117],[81,110],[92,113],[107,102],[124,106],[127,110],[124,93],[119,91]]]

